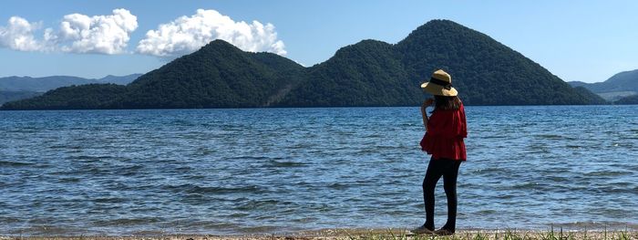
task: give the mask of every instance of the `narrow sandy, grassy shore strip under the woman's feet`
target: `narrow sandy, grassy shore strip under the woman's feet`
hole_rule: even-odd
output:
[[[411,235],[405,229],[325,229],[319,231],[297,232],[292,234],[254,234],[254,235],[76,235],[76,236],[0,236],[0,240],[34,239],[34,240],[133,240],[133,239],[161,239],[161,240],[311,240],[311,239],[530,239],[530,240],[628,240],[638,239],[636,230],[460,230],[455,235]]]

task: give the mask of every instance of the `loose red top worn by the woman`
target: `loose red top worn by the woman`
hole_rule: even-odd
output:
[[[466,161],[464,138],[468,137],[465,110],[434,110],[427,120],[426,135],[421,140],[421,150],[432,154],[433,159]]]

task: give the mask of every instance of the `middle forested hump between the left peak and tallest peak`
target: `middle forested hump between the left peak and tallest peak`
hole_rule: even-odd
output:
[[[422,98],[406,81],[392,45],[361,41],[339,49],[334,57],[309,68],[303,84],[278,105],[300,107],[406,106]]]

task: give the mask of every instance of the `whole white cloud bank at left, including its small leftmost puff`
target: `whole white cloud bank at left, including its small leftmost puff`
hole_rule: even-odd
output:
[[[12,16],[8,26],[0,26],[0,47],[20,51],[62,51],[74,53],[119,54],[126,52],[130,33],[138,28],[138,17],[127,9],[114,9],[113,15],[64,16],[59,29],[46,28],[42,39],[34,37],[40,24]]]

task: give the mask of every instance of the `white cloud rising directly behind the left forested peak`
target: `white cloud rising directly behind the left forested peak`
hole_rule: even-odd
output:
[[[212,40],[221,39],[245,51],[267,51],[285,55],[283,42],[277,40],[272,24],[258,21],[235,22],[215,10],[198,9],[193,16],[181,16],[157,30],[149,30],[139,41],[139,53],[178,57],[189,54]]]

